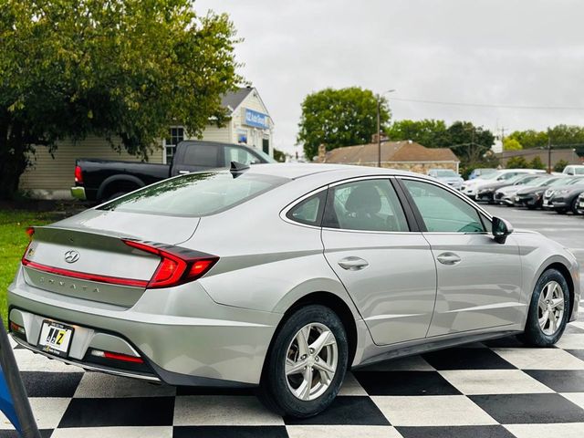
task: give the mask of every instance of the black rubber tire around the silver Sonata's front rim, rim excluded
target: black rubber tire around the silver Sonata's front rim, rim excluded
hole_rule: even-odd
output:
[[[556,281],[558,285],[562,288],[564,294],[564,315],[559,321],[558,330],[553,335],[547,335],[543,332],[542,328],[539,327],[538,321],[538,302],[539,296],[543,292],[544,287],[550,282]],[[568,318],[570,313],[570,295],[568,282],[566,278],[557,269],[547,269],[537,280],[536,287],[531,296],[531,304],[529,305],[527,315],[527,323],[524,333],[519,337],[527,345],[534,347],[551,347],[558,339],[561,338],[564,330],[566,329],[566,324],[568,324]]]

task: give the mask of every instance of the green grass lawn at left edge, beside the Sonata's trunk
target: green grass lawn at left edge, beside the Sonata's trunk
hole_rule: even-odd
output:
[[[49,224],[55,220],[53,215],[43,212],[0,210],[0,309],[5,324],[8,312],[6,290],[28,245],[26,227]]]

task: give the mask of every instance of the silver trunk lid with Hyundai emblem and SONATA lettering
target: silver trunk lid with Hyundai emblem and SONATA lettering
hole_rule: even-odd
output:
[[[193,217],[89,210],[36,227],[23,263],[25,281],[57,294],[129,308],[140,299],[161,257],[126,245],[122,238],[173,245],[193,235],[198,224]]]

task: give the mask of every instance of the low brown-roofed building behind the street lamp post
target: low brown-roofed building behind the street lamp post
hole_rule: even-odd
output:
[[[318,162],[377,166],[378,144],[360,144],[325,151],[318,150]],[[430,169],[452,169],[458,172],[460,160],[447,148],[426,148],[414,141],[381,141],[381,167],[427,173]]]

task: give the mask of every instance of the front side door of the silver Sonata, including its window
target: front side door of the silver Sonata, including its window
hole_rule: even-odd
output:
[[[436,260],[438,289],[428,336],[516,323],[521,262],[512,236],[496,243],[486,215],[453,191],[429,181],[400,182]]]

